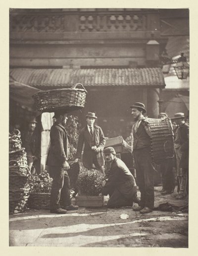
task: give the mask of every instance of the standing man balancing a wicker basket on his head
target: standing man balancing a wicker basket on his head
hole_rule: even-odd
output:
[[[67,170],[69,170],[69,135],[64,128],[67,122],[67,112],[55,111],[56,122],[50,129],[50,149],[47,159],[49,175],[53,179],[50,195],[50,212],[64,214],[67,210],[77,210],[79,207],[71,203],[70,185]],[[63,206],[60,207],[60,198]]]

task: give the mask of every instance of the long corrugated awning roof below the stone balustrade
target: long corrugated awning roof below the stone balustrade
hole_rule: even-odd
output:
[[[165,87],[161,68],[94,68],[94,69],[31,69],[12,68],[10,76],[34,87],[84,86],[149,86]]]

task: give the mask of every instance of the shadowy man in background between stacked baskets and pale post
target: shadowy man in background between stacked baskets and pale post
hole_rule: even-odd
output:
[[[31,117],[28,121],[28,130],[22,133],[21,140],[22,145],[25,147],[27,153],[27,162],[29,171],[31,172],[32,166],[34,165],[37,173],[40,173],[40,134],[36,130],[37,121],[36,117]]]

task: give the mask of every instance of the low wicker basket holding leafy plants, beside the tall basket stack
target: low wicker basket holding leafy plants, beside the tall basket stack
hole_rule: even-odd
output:
[[[49,209],[50,193],[31,192],[28,207],[31,209]]]

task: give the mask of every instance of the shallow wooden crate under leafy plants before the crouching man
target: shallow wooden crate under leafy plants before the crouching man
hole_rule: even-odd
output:
[[[76,205],[79,207],[101,207],[104,205],[104,196],[76,195]]]

